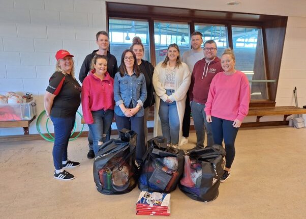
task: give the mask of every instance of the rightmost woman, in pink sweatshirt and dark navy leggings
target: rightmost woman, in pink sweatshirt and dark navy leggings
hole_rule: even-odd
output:
[[[235,139],[244,117],[248,115],[250,103],[249,80],[235,69],[235,56],[225,49],[221,57],[224,71],[211,81],[206,107],[207,122],[211,123],[213,141],[222,145],[224,140],[226,164],[221,182],[230,178],[230,169],[235,157]]]

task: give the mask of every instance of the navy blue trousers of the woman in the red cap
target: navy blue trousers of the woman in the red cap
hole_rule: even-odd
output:
[[[53,145],[53,163],[55,170],[63,168],[62,161],[68,159],[67,147],[70,139],[71,131],[74,126],[75,116],[73,117],[50,117],[54,126],[54,145]]]

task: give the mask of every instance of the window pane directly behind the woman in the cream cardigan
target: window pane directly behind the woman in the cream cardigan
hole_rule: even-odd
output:
[[[190,49],[189,25],[185,23],[154,22],[156,64],[164,61],[167,48],[176,43],[180,54]]]

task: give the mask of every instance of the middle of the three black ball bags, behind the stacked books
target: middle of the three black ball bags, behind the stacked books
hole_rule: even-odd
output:
[[[183,150],[167,147],[164,136],[147,141],[147,151],[140,165],[138,188],[144,191],[170,193],[183,173]]]

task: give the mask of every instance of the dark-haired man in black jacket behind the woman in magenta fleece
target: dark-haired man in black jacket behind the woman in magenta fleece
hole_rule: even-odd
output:
[[[115,73],[117,73],[118,71],[118,66],[117,66],[117,60],[116,58],[108,51],[108,47],[109,47],[109,36],[108,33],[106,31],[99,31],[96,34],[96,43],[99,46],[99,49],[94,50],[93,52],[91,52],[90,54],[88,54],[85,59],[84,62],[81,66],[80,69],[80,74],[79,74],[79,80],[81,81],[81,83],[83,83],[84,78],[88,75],[90,68],[91,68],[91,60],[93,60],[94,56],[96,56],[96,54],[100,54],[102,56],[106,56],[107,57],[107,72],[109,73],[109,75],[114,78],[115,77]],[[109,135],[111,133],[111,128],[109,130]],[[95,153],[94,153],[94,149],[93,149],[93,136],[91,135],[90,131],[88,131],[88,146],[89,146],[89,152],[87,154],[87,158],[88,159],[93,159],[95,158]]]

